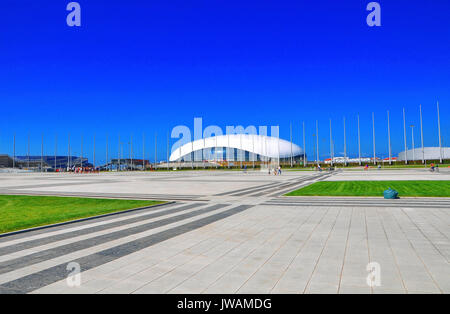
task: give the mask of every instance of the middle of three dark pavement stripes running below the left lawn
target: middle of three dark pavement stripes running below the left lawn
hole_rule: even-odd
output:
[[[147,223],[144,225],[140,225],[137,227],[127,228],[121,231],[116,231],[113,233],[107,233],[104,235],[96,236],[93,238],[89,238],[86,240],[81,240],[78,242],[58,246],[55,248],[51,248],[48,250],[36,252],[34,254],[18,257],[15,259],[11,259],[5,262],[0,263],[0,274],[8,273],[14,271],[16,269],[20,269],[23,267],[27,267],[33,264],[37,264],[40,262],[44,262],[62,255],[67,255],[76,251],[84,250],[96,245],[100,245],[106,242],[110,242],[113,240],[117,240],[120,238],[124,238],[133,234],[137,234],[140,232],[148,231],[151,229],[155,229],[158,227],[162,227],[171,223],[175,223],[178,221],[182,221],[188,218],[192,218],[201,214],[205,214],[222,207],[228,206],[229,204],[216,204],[212,206],[208,206],[203,209],[199,209],[193,212],[177,215],[174,217],[169,217],[165,219],[161,219],[155,222]]]

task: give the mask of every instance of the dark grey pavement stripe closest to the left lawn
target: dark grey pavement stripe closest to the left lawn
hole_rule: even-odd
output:
[[[120,226],[125,226],[125,225],[128,225],[128,224],[136,223],[136,222],[139,222],[139,221],[142,221],[142,220],[146,220],[146,219],[152,219],[152,218],[157,218],[157,217],[161,217],[161,216],[166,216],[166,215],[178,213],[178,212],[185,211],[185,210],[188,210],[188,209],[191,209],[191,208],[195,208],[195,207],[199,207],[199,206],[202,206],[202,205],[204,205],[204,204],[202,204],[202,203],[193,203],[193,204],[189,204],[189,205],[185,205],[185,206],[181,206],[181,207],[177,207],[177,208],[173,208],[173,209],[167,209],[167,210],[164,210],[164,211],[161,211],[161,212],[157,212],[157,213],[149,212],[148,214],[141,215],[141,216],[134,217],[134,218],[129,218],[129,219],[121,220],[121,221],[115,221],[115,222],[111,222],[111,223],[107,223],[107,224],[102,224],[100,226],[94,226],[94,227],[91,227],[91,228],[86,228],[86,229],[82,229],[82,230],[66,232],[66,233],[63,233],[63,234],[49,236],[49,237],[46,237],[46,238],[35,239],[35,240],[27,241],[27,242],[13,244],[13,245],[10,245],[10,246],[5,246],[5,247],[0,248],[0,256],[6,255],[6,254],[11,254],[11,253],[22,251],[22,250],[26,250],[26,249],[30,249],[30,248],[33,248],[33,247],[36,247],[36,246],[45,245],[45,244],[48,244],[48,243],[54,243],[54,242],[57,242],[57,241],[62,241],[62,240],[78,237],[78,236],[81,236],[81,235],[86,235],[86,234],[90,234],[90,233],[94,233],[94,232],[103,231],[103,230],[106,230],[106,229],[111,229],[111,228],[116,228],[116,227],[120,227]],[[117,218],[115,216],[112,216],[112,217],[113,218]],[[95,222],[96,222],[96,220],[91,220],[90,221],[90,223],[95,223]],[[73,226],[70,226],[70,228],[73,228]],[[51,230],[51,231],[53,231],[53,230]],[[47,230],[47,232],[48,232],[48,230]]]

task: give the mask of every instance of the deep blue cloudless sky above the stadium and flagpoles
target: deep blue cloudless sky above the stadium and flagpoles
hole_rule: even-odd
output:
[[[320,154],[329,155],[329,119],[336,154],[347,119],[350,155],[372,155],[371,113],[377,153],[387,155],[386,110],[392,147],[403,150],[402,108],[419,124],[425,145],[437,146],[436,101],[444,145],[450,146],[450,2],[379,1],[381,27],[368,27],[368,0],[351,1],[78,1],[82,26],[66,25],[69,1],[2,0],[0,4],[0,153],[53,154],[55,135],[65,154],[104,160],[117,135],[134,138],[135,157],[165,159],[166,136],[176,125],[279,125],[282,138],[307,153],[319,120]],[[420,133],[415,130],[415,142]],[[411,132],[408,128],[408,142]],[[171,140],[171,143],[175,139]]]

